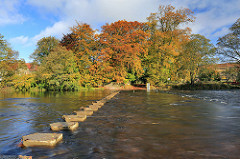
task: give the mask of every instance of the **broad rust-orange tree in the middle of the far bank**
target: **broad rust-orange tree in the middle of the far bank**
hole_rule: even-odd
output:
[[[120,20],[102,26],[101,53],[111,78],[123,83],[143,74],[142,59],[147,54],[148,29],[145,23]]]

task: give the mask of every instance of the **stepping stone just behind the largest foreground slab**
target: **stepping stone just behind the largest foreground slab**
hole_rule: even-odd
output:
[[[60,130],[75,130],[79,126],[78,122],[57,122],[50,124],[50,127],[53,131]]]

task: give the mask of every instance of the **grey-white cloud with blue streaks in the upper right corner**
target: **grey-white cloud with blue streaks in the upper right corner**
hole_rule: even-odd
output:
[[[240,0],[182,0],[176,3],[178,6],[182,4],[197,11],[196,21],[190,24],[193,33],[205,35],[209,39],[229,33],[227,28],[240,15]]]

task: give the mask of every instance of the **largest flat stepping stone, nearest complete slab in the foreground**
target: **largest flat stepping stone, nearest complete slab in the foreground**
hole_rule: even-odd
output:
[[[34,133],[22,137],[25,147],[33,146],[55,146],[63,138],[59,133]]]

